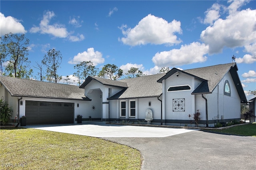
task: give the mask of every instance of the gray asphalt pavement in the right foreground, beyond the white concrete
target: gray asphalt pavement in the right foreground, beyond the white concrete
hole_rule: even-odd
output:
[[[140,150],[142,170],[255,170],[256,137],[191,131],[162,138],[104,138]]]

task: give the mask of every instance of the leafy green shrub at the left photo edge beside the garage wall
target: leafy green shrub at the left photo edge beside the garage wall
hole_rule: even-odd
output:
[[[8,106],[8,103],[0,99],[0,121],[4,124],[8,123],[12,117],[12,108]]]

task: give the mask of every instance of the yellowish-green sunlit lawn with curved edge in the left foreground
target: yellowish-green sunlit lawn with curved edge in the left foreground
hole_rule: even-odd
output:
[[[1,129],[0,144],[0,168],[11,164],[27,170],[122,170],[140,169],[141,165],[140,152],[134,148],[76,134]]]

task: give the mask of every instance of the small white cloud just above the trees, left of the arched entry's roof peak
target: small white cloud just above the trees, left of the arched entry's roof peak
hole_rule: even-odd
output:
[[[98,65],[104,63],[105,59],[102,58],[102,53],[99,51],[94,51],[94,48],[88,48],[87,51],[78,53],[74,58],[68,63],[79,64],[83,61],[92,61],[93,65]]]

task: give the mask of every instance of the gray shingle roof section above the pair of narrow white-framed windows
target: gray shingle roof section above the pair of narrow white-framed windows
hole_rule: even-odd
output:
[[[165,73],[161,73],[118,80],[118,82],[127,83],[128,88],[125,88],[109,99],[159,97],[162,94],[162,84],[158,83],[157,80],[164,75]]]

